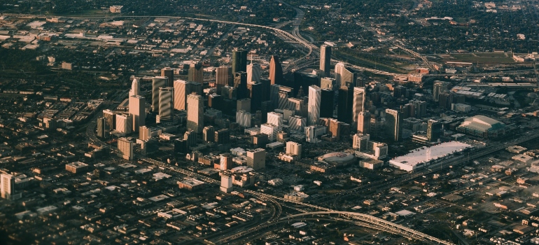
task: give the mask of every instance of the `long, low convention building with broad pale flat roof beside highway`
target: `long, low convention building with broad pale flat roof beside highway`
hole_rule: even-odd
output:
[[[472,146],[458,141],[445,142],[436,146],[417,148],[412,152],[402,155],[390,162],[400,163],[402,165],[415,166],[421,162],[430,162],[447,155],[464,151]]]

